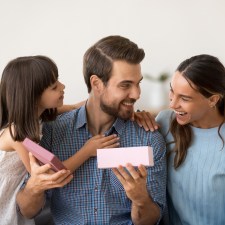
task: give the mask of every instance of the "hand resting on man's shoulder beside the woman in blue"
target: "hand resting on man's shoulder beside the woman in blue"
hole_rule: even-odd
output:
[[[136,121],[138,125],[143,127],[146,131],[154,131],[159,128],[159,124],[156,123],[154,116],[144,110],[134,112],[131,120]]]

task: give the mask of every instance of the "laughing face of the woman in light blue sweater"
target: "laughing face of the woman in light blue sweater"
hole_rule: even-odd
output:
[[[188,83],[180,72],[175,72],[171,81],[170,108],[176,113],[180,125],[191,124],[199,128],[208,128],[212,120],[212,102],[205,98],[195,86]]]

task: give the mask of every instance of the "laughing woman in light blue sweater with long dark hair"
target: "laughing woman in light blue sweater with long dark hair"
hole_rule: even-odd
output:
[[[168,143],[170,225],[225,224],[225,68],[210,55],[183,61],[170,108],[156,120]]]

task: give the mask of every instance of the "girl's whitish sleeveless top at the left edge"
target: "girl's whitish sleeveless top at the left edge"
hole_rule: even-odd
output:
[[[0,136],[3,130],[0,131]],[[16,209],[16,194],[27,171],[16,151],[0,150],[0,224],[34,225]]]

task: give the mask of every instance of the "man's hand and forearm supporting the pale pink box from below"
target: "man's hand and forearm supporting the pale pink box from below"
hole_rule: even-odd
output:
[[[126,169],[119,166],[114,174],[124,187],[127,197],[132,201],[131,219],[136,225],[153,225],[160,217],[158,205],[149,196],[146,181],[147,170],[143,165],[138,170],[128,163]]]

